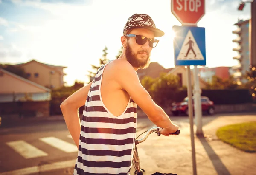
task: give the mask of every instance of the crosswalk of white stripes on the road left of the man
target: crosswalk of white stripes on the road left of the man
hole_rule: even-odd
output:
[[[72,138],[71,135],[67,135],[67,137]],[[45,144],[48,144],[51,147],[63,152],[71,153],[78,151],[75,144],[71,144],[56,137],[43,137],[38,139]],[[23,140],[9,141],[6,142],[6,144],[25,159],[44,157],[48,155],[47,152],[44,152],[43,150],[40,150],[39,148]]]

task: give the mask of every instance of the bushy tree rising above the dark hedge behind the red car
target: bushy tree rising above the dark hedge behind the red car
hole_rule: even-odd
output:
[[[227,79],[221,79],[218,76],[212,76],[212,82],[208,83],[206,89],[236,89],[238,84],[234,80],[233,76],[229,76]]]

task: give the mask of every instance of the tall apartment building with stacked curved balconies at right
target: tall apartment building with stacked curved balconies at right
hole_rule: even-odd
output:
[[[249,20],[239,20],[234,25],[237,26],[237,29],[232,31],[232,33],[237,34],[237,38],[232,41],[237,43],[237,47],[233,48],[233,51],[236,51],[238,54],[233,59],[237,60],[238,64],[232,68],[234,70],[234,78],[238,84],[241,84],[247,81],[243,79],[243,76],[250,68]]]

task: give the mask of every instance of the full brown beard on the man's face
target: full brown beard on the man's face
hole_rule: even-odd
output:
[[[137,54],[139,54],[140,52],[146,52],[148,53],[148,51],[139,51],[137,52]],[[145,69],[149,66],[150,64],[150,54],[148,53],[148,57],[145,60],[140,60],[137,58],[137,54],[132,53],[131,51],[131,47],[128,44],[125,50],[125,57],[127,59],[127,61],[134,67],[134,68],[142,68]]]

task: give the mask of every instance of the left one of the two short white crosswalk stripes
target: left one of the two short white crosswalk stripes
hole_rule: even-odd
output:
[[[39,150],[38,148],[32,146],[31,144],[23,140],[9,141],[6,142],[6,144],[26,159],[48,155],[46,152]]]

